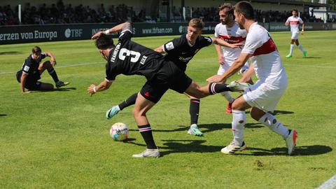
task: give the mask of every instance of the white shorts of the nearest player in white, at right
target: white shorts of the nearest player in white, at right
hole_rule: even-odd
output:
[[[243,97],[250,106],[265,112],[273,112],[285,91],[286,86],[274,88],[258,81],[244,92]]]

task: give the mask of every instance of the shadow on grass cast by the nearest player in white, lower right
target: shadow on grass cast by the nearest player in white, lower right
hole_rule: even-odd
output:
[[[251,153],[248,153],[251,151]],[[263,155],[288,155],[287,148],[272,148],[271,150],[262,149],[262,148],[253,148],[247,147],[246,152],[237,153],[235,155],[254,155],[254,156],[263,156]],[[292,156],[295,155],[321,155],[324,153],[329,153],[332,151],[330,146],[296,146],[295,151]]]

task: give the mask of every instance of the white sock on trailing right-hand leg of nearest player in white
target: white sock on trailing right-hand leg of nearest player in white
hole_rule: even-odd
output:
[[[280,134],[283,139],[286,139],[288,137],[288,130],[285,126],[283,126],[272,114],[265,113],[264,116],[258,120],[263,125],[267,125],[269,130],[272,130],[276,134]]]

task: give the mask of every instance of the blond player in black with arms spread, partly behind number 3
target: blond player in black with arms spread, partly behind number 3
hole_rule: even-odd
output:
[[[174,62],[176,66],[184,72],[186,71],[188,62],[193,59],[195,54],[199,52],[201,48],[207,47],[211,44],[223,45],[230,48],[238,48],[242,45],[242,43],[230,44],[218,38],[202,36],[203,27],[204,22],[202,22],[202,20],[199,18],[193,18],[188,24],[187,34],[183,34],[179,38],[174,38],[172,41],[168,41],[164,45],[156,48],[155,51],[166,53],[167,55],[165,55],[165,58]],[[188,94],[186,95],[190,99],[190,128],[188,130],[188,134],[202,136],[202,132],[197,127],[198,116],[200,113],[200,99],[192,97]],[[111,109],[106,111],[106,118],[110,119],[127,106],[135,104],[137,96],[138,92],[132,94],[120,104],[113,106]]]

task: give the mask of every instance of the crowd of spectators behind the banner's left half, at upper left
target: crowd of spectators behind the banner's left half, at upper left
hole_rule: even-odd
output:
[[[69,24],[69,23],[102,23],[102,22],[144,22],[146,10],[139,11],[136,15],[132,6],[120,4],[105,8],[101,4],[99,8],[90,6],[72,6],[69,3],[64,6],[62,0],[47,6],[41,4],[39,8],[26,3],[22,7],[22,25],[45,25],[45,24]],[[7,6],[0,6],[0,25],[18,25],[18,6],[14,9]]]

